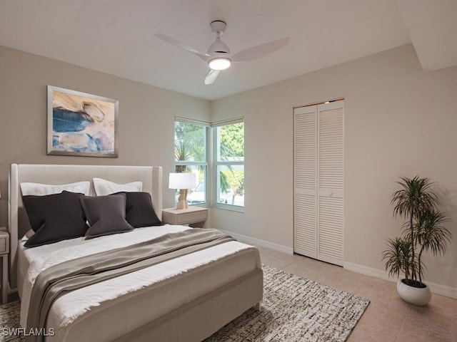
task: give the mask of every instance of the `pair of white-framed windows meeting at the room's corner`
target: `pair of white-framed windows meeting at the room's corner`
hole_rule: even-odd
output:
[[[211,145],[208,141],[211,139]],[[209,146],[214,154],[209,162]],[[175,172],[194,172],[197,185],[187,195],[192,204],[242,211],[244,207],[244,123],[242,119],[209,124],[176,118],[174,125]],[[208,170],[211,177],[208,177]],[[209,182],[211,181],[211,184]],[[178,201],[176,190],[175,201]]]

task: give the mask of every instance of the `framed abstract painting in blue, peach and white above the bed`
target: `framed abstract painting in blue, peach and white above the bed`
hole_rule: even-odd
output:
[[[116,158],[119,101],[48,86],[48,155]]]

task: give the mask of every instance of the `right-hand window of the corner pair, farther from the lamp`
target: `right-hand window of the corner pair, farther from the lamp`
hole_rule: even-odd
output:
[[[244,123],[218,125],[213,130],[215,202],[219,207],[241,209],[244,207]]]

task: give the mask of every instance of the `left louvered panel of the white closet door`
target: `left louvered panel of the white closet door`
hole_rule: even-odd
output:
[[[317,257],[317,106],[294,110],[294,252]]]

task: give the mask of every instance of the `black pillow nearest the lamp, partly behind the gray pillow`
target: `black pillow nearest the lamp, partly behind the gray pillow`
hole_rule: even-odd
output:
[[[134,228],[161,226],[162,222],[157,217],[152,207],[149,192],[116,192],[113,195],[126,195],[126,221]],[[110,195],[112,196],[112,195]]]

